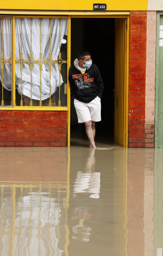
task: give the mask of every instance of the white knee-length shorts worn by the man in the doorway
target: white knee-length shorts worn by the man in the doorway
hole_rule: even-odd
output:
[[[78,116],[78,123],[101,121],[101,99],[98,96],[89,103],[74,99],[74,106]]]

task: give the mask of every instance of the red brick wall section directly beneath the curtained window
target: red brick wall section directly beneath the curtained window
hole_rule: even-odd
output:
[[[0,146],[66,147],[67,111],[0,110]]]

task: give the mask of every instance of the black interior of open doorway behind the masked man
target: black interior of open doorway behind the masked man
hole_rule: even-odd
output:
[[[90,53],[104,82],[104,92],[101,98],[101,121],[96,123],[95,141],[112,144],[114,136],[115,19],[71,18],[71,64],[81,49]],[[72,101],[70,138],[70,143],[74,146],[79,145],[78,139],[84,141],[87,138],[84,124],[78,124]]]

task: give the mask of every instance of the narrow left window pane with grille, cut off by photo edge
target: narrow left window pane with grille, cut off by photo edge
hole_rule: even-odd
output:
[[[12,106],[11,18],[0,18],[0,106]]]

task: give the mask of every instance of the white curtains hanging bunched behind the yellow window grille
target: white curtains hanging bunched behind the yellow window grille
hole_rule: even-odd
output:
[[[4,19],[4,21],[7,19]],[[8,33],[4,34],[4,51],[11,52],[11,43],[5,44],[6,41],[11,42],[11,29],[9,24],[4,23],[4,28]],[[59,53],[59,19],[53,18],[51,25],[51,52],[52,59],[57,60]],[[61,29],[60,29],[60,42],[64,35],[67,35],[67,19],[61,19]],[[20,18],[15,19],[15,59],[20,59],[21,52],[21,20]],[[22,20],[22,57],[24,60],[30,58],[31,52],[31,21],[30,18],[23,18]],[[50,53],[50,20],[49,18],[42,18],[41,21],[41,52],[42,58],[44,60],[49,59]],[[8,54],[9,54],[8,53]],[[38,60],[40,57],[40,18],[32,19],[32,53],[33,59]],[[7,76],[11,76],[11,70],[6,69]],[[9,75],[10,73],[10,75]],[[15,64],[15,75],[16,75],[16,87],[19,94],[21,94],[21,70],[20,64]],[[60,77],[60,84],[63,83],[62,76]],[[4,80],[4,85],[6,89],[11,90],[11,83],[7,83]],[[59,70],[58,64],[52,65],[51,71],[51,95],[59,87]],[[28,63],[23,64],[22,69],[22,94],[31,97],[31,70]],[[49,64],[44,63],[42,65],[41,71],[41,100],[45,100],[50,96],[50,71]],[[39,64],[35,63],[32,69],[32,99],[40,100],[40,68]]]

